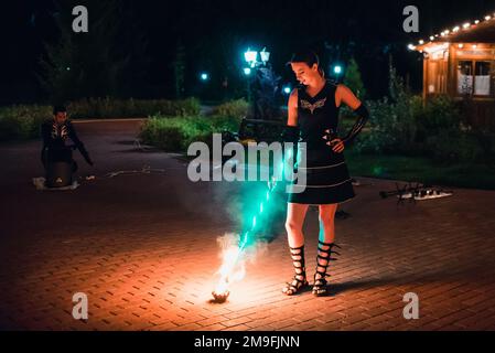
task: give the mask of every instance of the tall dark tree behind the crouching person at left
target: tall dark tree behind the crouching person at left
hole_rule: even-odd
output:
[[[39,78],[54,103],[118,95],[118,78],[128,57],[115,52],[120,19],[116,0],[88,0],[89,31],[75,33],[76,0],[60,1],[54,13],[60,41],[45,43]]]

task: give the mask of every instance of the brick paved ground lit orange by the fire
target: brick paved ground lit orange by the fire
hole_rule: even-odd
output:
[[[226,210],[238,188],[191,184],[184,162],[132,146],[137,122],[78,129],[96,169],[82,173],[166,169],[119,175],[74,192],[36,192],[39,142],[0,147],[0,328],[29,330],[493,330],[495,192],[397,207],[378,191],[390,181],[362,179],[358,197],[336,221],[343,247],[332,296],[284,297],[292,276],[283,232],[268,244],[227,303],[211,302],[219,266],[216,238],[235,227]],[[37,170],[36,170],[37,169]],[[36,172],[35,172],[36,171]],[[314,268],[316,213],[306,218],[308,268]],[[85,292],[89,319],[72,318]],[[415,292],[420,319],[402,318]]]

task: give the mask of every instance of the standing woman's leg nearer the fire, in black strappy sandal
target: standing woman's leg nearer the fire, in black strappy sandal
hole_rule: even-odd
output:
[[[295,295],[301,288],[308,286],[304,264],[304,235],[302,226],[309,205],[288,204],[286,229],[288,234],[290,254],[294,266],[294,279],[287,284],[282,292],[288,296]]]

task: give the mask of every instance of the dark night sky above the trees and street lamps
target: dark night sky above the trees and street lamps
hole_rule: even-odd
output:
[[[402,31],[402,9],[408,4],[420,10],[420,34]],[[141,61],[136,60],[134,66],[128,68],[129,74],[138,69],[143,73],[131,90],[133,96],[142,97],[172,95],[170,63],[177,45],[185,51],[189,94],[195,93],[195,77],[201,71],[211,73],[212,89],[224,76],[236,76],[248,46],[267,46],[273,67],[287,82],[292,76],[284,63],[300,47],[318,51],[324,65],[354,56],[372,97],[386,93],[391,54],[399,73],[408,76],[411,87],[419,90],[421,61],[418,54],[407,51],[407,44],[495,11],[495,0],[122,0],[118,6],[125,13],[120,25],[128,33],[117,36],[115,45],[125,52],[136,42],[142,44],[136,54]],[[92,9],[88,10],[90,24]],[[46,99],[36,74],[43,43],[57,41],[54,12],[53,1],[20,0],[2,6],[0,104]]]

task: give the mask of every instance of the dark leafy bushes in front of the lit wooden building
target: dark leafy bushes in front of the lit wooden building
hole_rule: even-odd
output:
[[[426,106],[420,96],[368,106],[372,130],[358,137],[358,152],[424,156],[445,163],[486,161],[495,154],[494,133],[463,131],[460,106],[450,97],[431,98]]]

